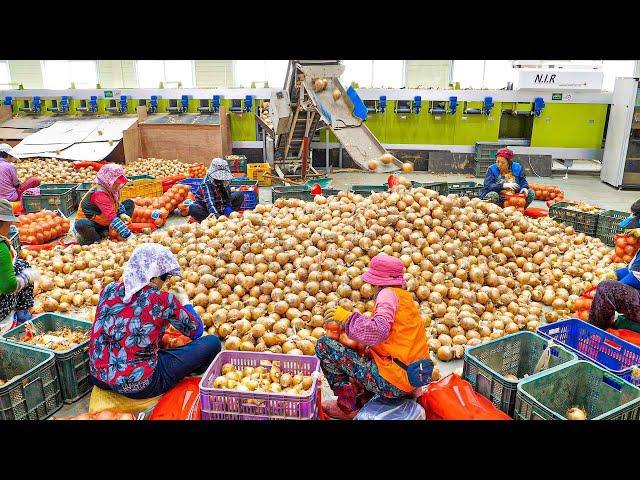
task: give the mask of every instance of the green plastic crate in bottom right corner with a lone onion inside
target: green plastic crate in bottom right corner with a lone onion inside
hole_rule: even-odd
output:
[[[566,420],[572,407],[588,420],[638,420],[640,389],[590,362],[578,361],[518,384],[516,420]]]

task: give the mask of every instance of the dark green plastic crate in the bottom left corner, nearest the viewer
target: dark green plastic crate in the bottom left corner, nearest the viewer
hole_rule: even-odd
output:
[[[62,405],[56,360],[50,351],[0,341],[0,420],[44,420]]]

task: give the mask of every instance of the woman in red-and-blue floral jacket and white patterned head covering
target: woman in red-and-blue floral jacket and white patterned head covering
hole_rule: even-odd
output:
[[[91,381],[98,388],[133,399],[152,398],[187,375],[204,372],[220,352],[218,337],[202,336],[202,320],[187,295],[162,290],[173,275],[180,275],[180,266],[171,250],[146,243],[133,251],[124,281],[102,290],[89,344]],[[193,341],[161,350],[169,325]]]

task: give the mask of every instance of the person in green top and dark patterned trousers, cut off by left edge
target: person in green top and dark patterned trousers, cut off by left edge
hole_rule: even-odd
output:
[[[40,277],[11,247],[9,229],[16,220],[11,204],[0,199],[0,330],[31,318],[33,284]]]

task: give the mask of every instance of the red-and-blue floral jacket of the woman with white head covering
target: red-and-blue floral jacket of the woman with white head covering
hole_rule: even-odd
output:
[[[100,294],[91,329],[91,375],[116,387],[136,389],[155,371],[160,339],[169,324],[194,339],[202,321],[193,307],[183,306],[171,293],[148,285],[125,303],[124,284],[113,282]]]

